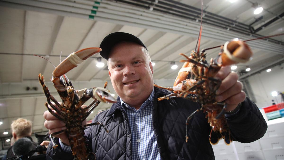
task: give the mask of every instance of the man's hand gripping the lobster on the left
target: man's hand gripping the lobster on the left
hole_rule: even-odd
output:
[[[52,104],[56,108],[58,108],[55,103],[52,102]],[[62,103],[60,103],[60,105],[62,105]],[[48,105],[48,107],[51,108],[50,105]],[[82,109],[85,108],[85,107],[87,107],[87,106],[83,105]],[[53,108],[51,108],[51,109],[53,110]],[[58,110],[60,110],[60,109],[58,108]],[[53,112],[57,113],[55,110],[53,110]],[[57,115],[59,115],[59,114],[57,114]],[[54,132],[59,132],[61,130],[66,129],[66,124],[64,122],[60,121],[59,119],[57,119],[55,116],[53,116],[48,110],[43,113],[43,117],[45,119],[44,126],[45,126],[45,128],[47,128],[49,130],[49,134],[54,133]],[[60,116],[60,117],[62,117],[62,116]],[[82,125],[84,125],[84,124],[86,124],[86,120],[84,120]],[[54,135],[54,137],[60,138],[60,140],[63,143],[65,143],[66,145],[70,145],[69,140],[68,140],[65,132],[62,132],[60,134],[56,134],[56,135]]]

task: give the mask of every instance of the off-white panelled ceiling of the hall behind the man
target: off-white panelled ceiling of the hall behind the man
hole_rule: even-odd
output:
[[[200,22],[110,0],[100,1],[96,15],[93,14],[94,19],[89,19],[89,13],[85,13],[84,7],[89,3],[93,4],[94,1],[76,2],[0,1],[0,120],[3,121],[0,125],[0,137],[7,136],[2,132],[9,131],[12,120],[20,117],[33,121],[33,131],[46,130],[42,116],[46,110],[44,106],[46,98],[37,78],[39,73],[43,73],[45,80],[48,81],[54,67],[46,60],[32,56],[33,54],[43,55],[54,65],[58,65],[61,51],[62,57],[65,58],[74,51],[98,47],[101,40],[112,32],[128,32],[139,37],[147,46],[152,61],[156,63],[153,75],[155,83],[170,86],[178,71],[170,69],[169,62],[176,61],[180,68],[182,63],[178,61],[183,58],[179,53],[190,54],[195,49]],[[200,0],[180,2],[201,8]],[[254,29],[283,13],[283,0],[251,2],[260,3],[265,11],[254,15],[254,8],[248,0],[238,0],[235,3],[226,0],[204,0],[203,5],[205,11],[247,25],[263,16],[260,22],[252,25]],[[75,7],[72,7],[72,3]],[[79,8],[76,8],[76,5]],[[204,17],[206,18],[206,13]],[[218,46],[232,38],[244,40],[254,38],[208,24],[203,24],[202,31],[201,48]],[[283,32],[284,20],[281,17],[257,34],[269,36]],[[266,40],[248,42],[254,56],[250,62],[238,65],[239,71],[245,69],[246,65],[253,71],[260,67],[265,68],[275,61],[283,61],[284,36],[273,39],[282,43],[276,44]],[[218,48],[208,50],[207,58],[216,57],[219,50]],[[93,57],[100,55],[96,54]],[[104,59],[103,61],[106,62]],[[105,68],[97,68],[96,63],[96,58],[89,58],[67,73],[76,89],[103,86],[105,81],[110,81],[108,71]],[[53,95],[57,95],[50,82],[47,82],[47,86]],[[26,87],[39,89],[26,91]],[[114,92],[111,84],[108,88]],[[55,98],[59,99],[58,96]],[[90,120],[99,109],[106,109],[109,106],[110,104],[100,104],[87,119]]]

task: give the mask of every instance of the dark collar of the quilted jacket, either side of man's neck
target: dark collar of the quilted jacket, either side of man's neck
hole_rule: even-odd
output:
[[[165,96],[165,95],[168,95],[168,94],[170,94],[169,91],[167,91],[165,89],[160,89],[160,88],[154,87],[154,100],[153,100],[153,102],[155,102],[158,97],[162,97],[162,96]],[[120,102],[120,97],[118,96],[116,100],[117,100],[117,102],[112,104],[112,106],[110,107],[106,117],[114,114],[114,112],[117,109],[123,110],[122,106],[121,106],[121,102]]]

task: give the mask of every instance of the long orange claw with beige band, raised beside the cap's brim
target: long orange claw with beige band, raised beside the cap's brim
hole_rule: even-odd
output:
[[[71,69],[77,67],[84,60],[90,56],[100,52],[102,49],[97,47],[85,48],[70,54],[64,61],[62,61],[53,71],[53,77],[60,77]]]

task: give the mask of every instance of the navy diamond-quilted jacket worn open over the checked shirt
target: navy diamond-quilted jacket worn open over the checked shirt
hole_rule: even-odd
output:
[[[210,126],[203,112],[198,112],[189,123],[189,141],[185,142],[185,121],[187,116],[199,108],[199,104],[190,100],[175,98],[157,101],[157,97],[169,94],[155,87],[153,125],[158,150],[162,159],[215,159],[209,142]],[[131,131],[126,113],[118,102],[109,110],[97,115],[93,122],[101,122],[109,130],[106,133],[100,125],[85,130],[89,147],[92,147],[97,159],[132,159]],[[257,106],[246,99],[240,111],[227,118],[233,140],[249,143],[261,138],[267,124]],[[58,143],[58,139],[55,138]],[[60,147],[47,149],[47,159],[73,159]]]

